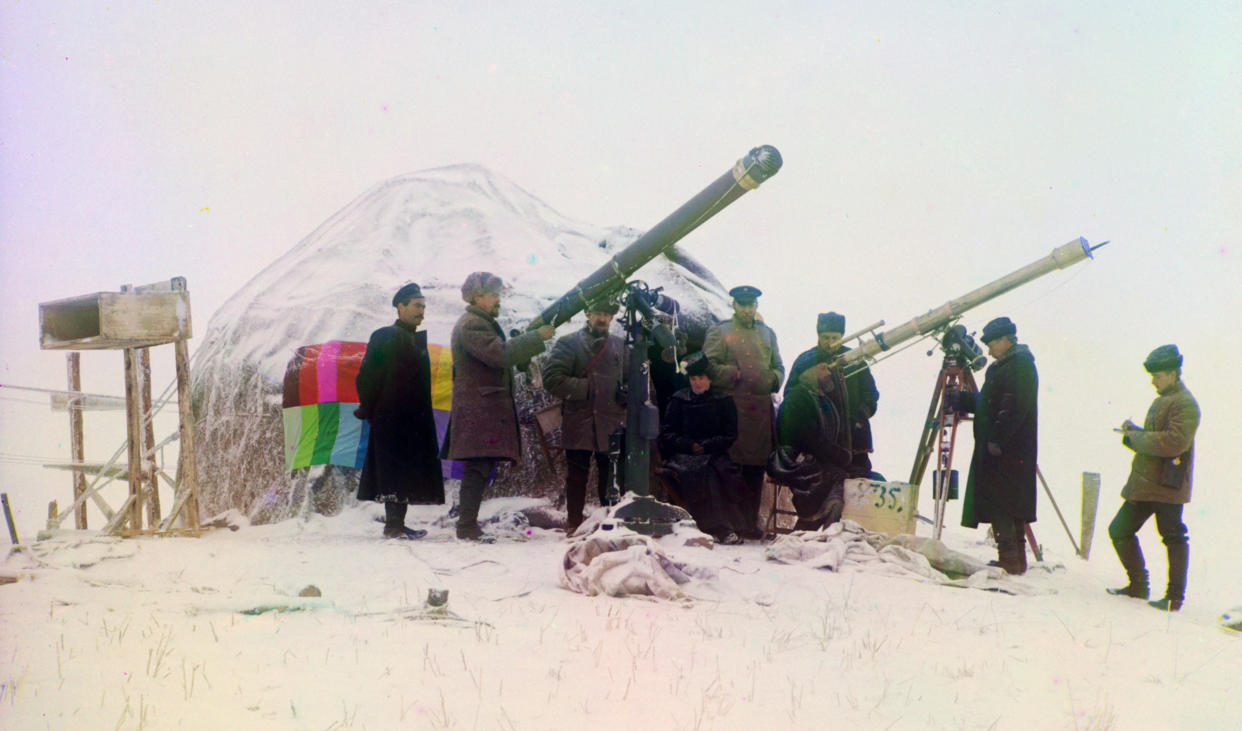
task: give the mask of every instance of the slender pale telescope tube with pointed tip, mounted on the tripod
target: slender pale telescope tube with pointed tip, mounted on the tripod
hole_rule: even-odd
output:
[[[1104,243],[1108,242],[1105,241]],[[1086,238],[1078,237],[1069,243],[1058,246],[1052,249],[1051,254],[1031,262],[1011,274],[984,284],[979,289],[964,294],[958,299],[950,299],[925,315],[914,318],[913,320],[903,325],[898,325],[887,333],[876,335],[873,340],[861,343],[858,348],[837,359],[836,365],[848,367],[858,364],[859,361],[873,359],[877,354],[897,348],[907,340],[927,335],[928,333],[935,333],[940,328],[944,328],[953,320],[960,318],[966,310],[971,310],[990,299],[1000,297],[1010,289],[1016,289],[1054,269],[1064,269],[1066,267],[1077,264],[1083,259],[1093,258],[1090,252],[1104,246],[1104,243],[1088,246]]]

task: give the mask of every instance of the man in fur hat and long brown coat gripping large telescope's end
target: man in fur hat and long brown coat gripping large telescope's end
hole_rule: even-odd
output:
[[[543,352],[551,325],[505,339],[496,321],[504,282],[491,272],[473,272],[462,284],[466,312],[453,325],[453,396],[445,449],[466,463],[458,500],[457,537],[488,540],[478,527],[483,488],[501,460],[522,454],[518,412],[513,403],[513,367],[524,367]]]

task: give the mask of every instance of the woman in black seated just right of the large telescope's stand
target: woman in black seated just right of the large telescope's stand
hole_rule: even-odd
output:
[[[712,388],[708,361],[694,354],[686,361],[691,385],[673,393],[660,429],[666,477],[699,530],[722,544],[740,544],[741,472],[729,459],[738,438],[738,408],[733,397]]]

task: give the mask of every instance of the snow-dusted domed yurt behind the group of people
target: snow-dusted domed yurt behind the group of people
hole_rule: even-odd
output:
[[[448,345],[465,307],[461,282],[478,269],[504,278],[509,290],[501,325],[520,328],[640,235],[566,218],[477,165],[414,173],[375,186],[260,272],[211,318],[194,364],[201,510],[211,515],[233,508],[267,521],[288,516],[302,503],[307,475],[283,472],[281,421],[284,366],[296,348],[366,341],[371,330],[394,320],[392,293],[411,280],[427,298],[430,341]],[[681,302],[683,319],[700,326],[713,312],[728,309],[717,278],[676,248],[636,277],[664,287]],[[580,321],[561,326],[558,335]],[[501,493],[534,488],[538,463],[545,460],[533,438],[525,442],[530,459],[512,477],[502,474]],[[504,484],[507,478],[522,484]],[[329,491],[348,494],[354,479],[333,475]]]

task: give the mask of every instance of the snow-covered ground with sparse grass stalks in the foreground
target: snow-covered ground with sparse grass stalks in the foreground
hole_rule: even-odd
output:
[[[484,505],[493,511],[503,501]],[[679,547],[684,601],[560,586],[568,542],[379,537],[337,518],[111,539],[65,531],[0,586],[4,729],[1236,729],[1242,637],[1046,555],[1012,596]],[[949,545],[979,558],[981,532]],[[1107,546],[1100,546],[1105,549]],[[1051,552],[1051,551],[1049,551]],[[1161,585],[1163,576],[1156,583]],[[308,585],[319,598],[301,598]],[[457,618],[427,616],[447,588]]]

